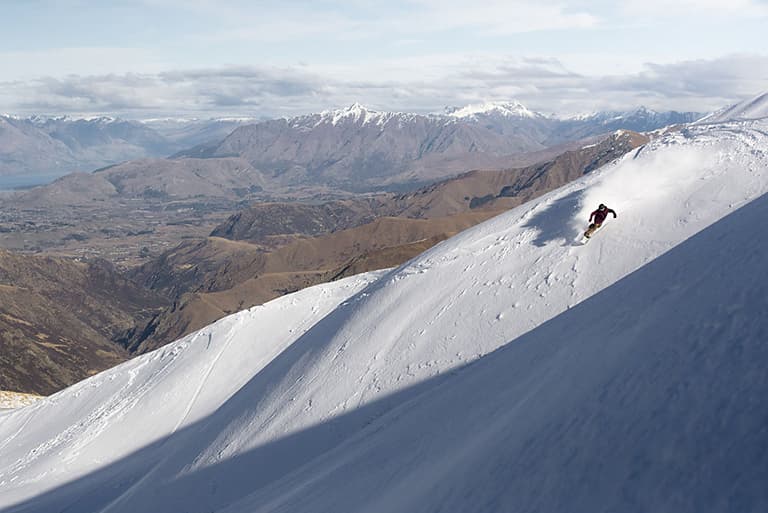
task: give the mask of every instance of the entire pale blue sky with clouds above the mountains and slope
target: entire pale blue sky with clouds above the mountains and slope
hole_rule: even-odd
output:
[[[0,0],[0,12],[0,113],[14,115],[511,100],[561,116],[707,112],[768,91],[768,0]]]

